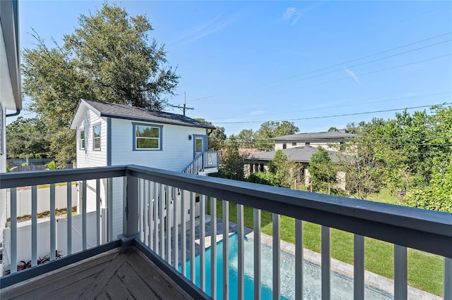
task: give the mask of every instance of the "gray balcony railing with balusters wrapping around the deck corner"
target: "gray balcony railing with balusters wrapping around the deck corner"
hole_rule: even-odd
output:
[[[171,265],[174,272],[189,277],[192,282],[199,278],[199,287],[207,292],[206,282],[210,282],[209,295],[214,299],[222,295],[228,299],[230,295],[229,266],[229,219],[230,206],[237,205],[237,299],[244,299],[244,206],[250,206],[254,211],[254,299],[261,299],[261,280],[263,272],[261,266],[261,210],[272,213],[273,237],[272,239],[272,293],[273,299],[280,299],[282,282],[280,277],[281,251],[280,251],[280,215],[295,218],[295,299],[303,299],[305,287],[303,285],[303,226],[304,221],[322,225],[321,229],[321,298],[331,299],[331,254],[330,254],[330,228],[352,232],[355,235],[354,243],[354,278],[353,290],[350,294],[355,299],[364,299],[364,237],[372,237],[394,244],[394,290],[395,299],[407,299],[407,248],[419,249],[432,254],[444,256],[444,299],[452,299],[452,215],[434,211],[424,211],[417,208],[393,206],[371,201],[347,199],[339,196],[328,196],[309,192],[300,192],[279,187],[256,185],[249,182],[237,182],[212,177],[198,177],[189,174],[175,173],[153,168],[144,168],[135,165],[88,168],[74,170],[55,170],[33,173],[1,174],[0,189],[10,189],[11,192],[11,245],[9,261],[16,266],[18,260],[18,223],[16,220],[16,189],[18,187],[31,187],[32,191],[37,185],[50,185],[49,199],[36,199],[32,192],[32,235],[31,258],[32,265],[37,264],[37,213],[36,201],[50,201],[51,228],[55,226],[56,216],[52,213],[52,204],[55,196],[52,193],[54,185],[58,182],[82,182],[81,193],[81,225],[83,246],[82,251],[89,248],[88,225],[86,207],[87,182],[95,180],[95,245],[102,244],[100,193],[102,180],[110,182],[110,191],[115,182],[113,178],[121,177],[124,190],[121,191],[123,215],[120,220],[123,225],[122,234],[125,237],[135,237],[140,245],[147,247],[163,258],[167,265]],[[118,180],[116,181],[118,182]],[[69,189],[68,189],[69,190]],[[114,219],[113,208],[114,193],[107,194],[109,199],[107,209],[103,210],[109,221],[107,222],[107,239],[109,242],[117,239],[112,236]],[[70,193],[68,193],[68,206],[71,206]],[[199,199],[201,214],[195,220],[194,211],[196,201]],[[217,215],[217,199],[222,200],[222,215]],[[206,207],[210,201],[210,232],[206,234]],[[69,209],[69,207],[68,207]],[[220,222],[222,218],[222,222]],[[71,216],[68,215],[68,223]],[[198,223],[198,230],[196,230]],[[217,225],[222,223],[223,242],[222,249],[215,243]],[[72,231],[67,227],[67,254],[73,248]],[[91,231],[91,230],[90,230]],[[206,237],[210,236],[210,270],[206,270]],[[55,230],[49,232],[49,249],[51,261],[56,259],[57,235]],[[276,249],[276,250],[275,250]],[[217,286],[217,276],[220,275],[217,252],[222,250],[222,286]],[[196,274],[194,263],[186,266],[189,259],[195,261],[199,254],[199,274]],[[53,254],[53,255],[52,255]],[[387,258],[381,258],[387,259]],[[11,268],[11,273],[16,273]],[[207,274],[210,274],[208,277]],[[14,275],[14,274],[13,274]],[[7,275],[2,278],[13,276]],[[2,282],[4,284],[4,282]]]

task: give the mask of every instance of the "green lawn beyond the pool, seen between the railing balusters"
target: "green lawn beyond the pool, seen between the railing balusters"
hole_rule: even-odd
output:
[[[208,207],[210,213],[210,201]],[[222,201],[217,201],[217,215],[222,217]],[[245,206],[244,223],[253,228],[253,208]],[[237,223],[237,206],[230,204],[230,221]],[[261,231],[272,235],[271,213],[262,211]],[[281,215],[281,239],[295,244],[295,220]],[[304,222],[304,247],[320,252],[321,226]],[[365,238],[364,244],[366,270],[393,278],[393,244],[376,239]],[[350,232],[331,229],[331,256],[345,263],[353,264],[353,235]],[[434,254],[408,249],[408,285],[441,296],[443,292],[444,258]]]

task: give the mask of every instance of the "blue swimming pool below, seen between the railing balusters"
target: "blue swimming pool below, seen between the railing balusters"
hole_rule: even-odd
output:
[[[237,299],[237,234],[229,237],[229,280],[230,299]],[[254,296],[254,245],[251,239],[244,242],[244,293],[245,299]],[[222,241],[217,243],[217,298],[222,299]],[[190,279],[190,260],[186,261],[187,277]],[[200,256],[195,257],[196,285],[199,287]],[[261,296],[262,299],[272,298],[272,249],[261,246]],[[181,266],[179,265],[179,272]],[[281,251],[280,260],[281,299],[295,299],[295,257]],[[321,298],[321,268],[307,261],[304,262],[304,299]],[[206,293],[210,295],[210,248],[206,249]],[[351,299],[353,280],[331,273],[331,299]],[[366,299],[393,299],[391,295],[379,292],[371,287],[365,287]]]

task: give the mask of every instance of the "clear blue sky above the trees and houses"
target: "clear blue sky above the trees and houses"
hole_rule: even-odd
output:
[[[145,14],[181,76],[169,103],[227,135],[261,121],[301,132],[452,101],[451,1],[122,1]],[[101,1],[19,1],[20,42],[52,46]],[[417,108],[421,110],[424,108]],[[168,109],[174,113],[176,108]],[[387,111],[334,118],[318,118]],[[22,113],[31,117],[31,113]],[[11,121],[11,120],[10,120]]]

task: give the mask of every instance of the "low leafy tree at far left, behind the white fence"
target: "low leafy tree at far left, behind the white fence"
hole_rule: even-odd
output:
[[[7,154],[11,158],[47,158],[47,128],[38,118],[19,117],[6,126]]]

